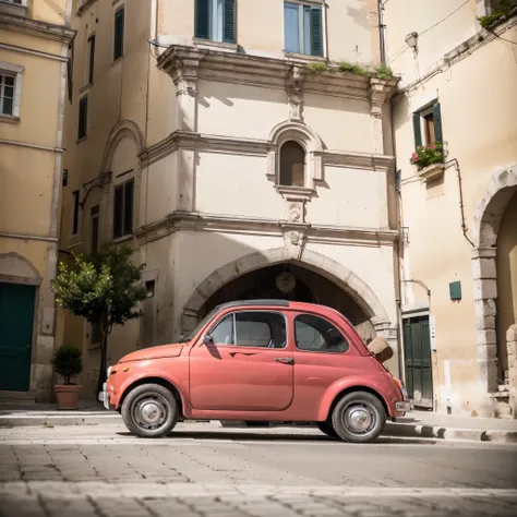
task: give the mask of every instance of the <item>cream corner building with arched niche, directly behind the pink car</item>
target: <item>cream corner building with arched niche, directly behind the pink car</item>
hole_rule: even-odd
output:
[[[145,264],[143,317],[113,330],[111,362],[223,301],[288,298],[385,336],[399,373],[397,81],[337,64],[378,63],[377,15],[368,0],[77,2],[61,249],[113,239]],[[97,333],[63,322],[93,396]]]

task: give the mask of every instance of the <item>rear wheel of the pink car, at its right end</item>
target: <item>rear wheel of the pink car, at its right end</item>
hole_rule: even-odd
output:
[[[333,428],[345,442],[373,442],[383,432],[385,423],[383,404],[368,392],[345,395],[332,413]]]

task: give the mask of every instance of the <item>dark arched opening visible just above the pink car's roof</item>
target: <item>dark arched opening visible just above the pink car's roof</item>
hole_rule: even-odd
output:
[[[299,264],[284,262],[252,270],[229,281],[212,294],[200,310],[203,317],[228,301],[284,299],[332,306],[344,314],[369,341],[375,329],[366,313],[336,284]]]

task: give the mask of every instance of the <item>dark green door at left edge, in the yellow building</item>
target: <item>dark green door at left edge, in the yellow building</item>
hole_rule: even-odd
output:
[[[28,392],[35,287],[0,282],[0,390]]]

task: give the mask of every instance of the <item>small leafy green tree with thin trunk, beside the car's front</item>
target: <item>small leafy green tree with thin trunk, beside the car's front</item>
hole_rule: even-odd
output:
[[[100,328],[97,394],[106,381],[108,336],[113,326],[141,316],[137,304],[145,298],[141,281],[144,266],[135,266],[131,254],[130,248],[108,242],[98,253],[73,255],[71,269],[61,262],[52,281],[59,306]]]

